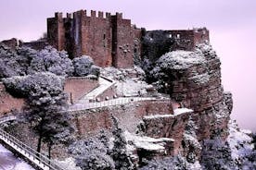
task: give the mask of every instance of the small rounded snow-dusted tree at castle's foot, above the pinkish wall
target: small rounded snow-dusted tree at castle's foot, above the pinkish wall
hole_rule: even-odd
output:
[[[74,76],[83,77],[87,75],[99,75],[99,67],[94,65],[94,60],[87,55],[73,59]]]

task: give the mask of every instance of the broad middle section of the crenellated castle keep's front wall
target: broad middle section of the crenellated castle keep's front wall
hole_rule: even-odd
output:
[[[107,15],[108,16],[108,15]],[[91,11],[91,16],[86,15],[86,10],[74,13],[71,35],[74,37],[76,49],[73,55],[90,55],[97,66],[110,67],[112,64],[111,42],[112,29],[110,18],[103,18],[103,13]]]

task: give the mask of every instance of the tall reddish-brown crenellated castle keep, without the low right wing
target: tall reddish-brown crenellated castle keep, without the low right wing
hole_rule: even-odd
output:
[[[90,55],[99,67],[133,67],[134,37],[140,30],[134,30],[130,19],[121,13],[110,15],[86,10],[67,14],[56,13],[47,18],[48,42],[58,50],[68,51],[71,57]],[[135,32],[135,33],[134,33]]]

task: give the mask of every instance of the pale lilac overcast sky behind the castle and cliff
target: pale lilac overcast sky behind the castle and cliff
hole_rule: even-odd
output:
[[[46,18],[80,9],[122,12],[147,30],[207,27],[222,61],[224,90],[234,95],[232,117],[256,130],[256,0],[5,0],[0,5],[0,40],[36,40],[46,31]]]

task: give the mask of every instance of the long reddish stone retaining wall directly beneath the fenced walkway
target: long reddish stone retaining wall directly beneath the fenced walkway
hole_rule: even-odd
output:
[[[170,100],[141,101],[116,106],[102,107],[71,113],[78,130],[78,135],[89,137],[101,129],[112,127],[111,114],[115,115],[123,129],[135,132],[137,125],[145,115],[173,114]]]

